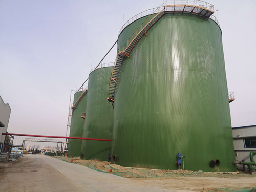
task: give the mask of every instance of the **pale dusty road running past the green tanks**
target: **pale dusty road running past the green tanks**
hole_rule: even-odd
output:
[[[256,178],[128,179],[42,155],[0,163],[0,191],[233,191],[248,187],[256,187]]]

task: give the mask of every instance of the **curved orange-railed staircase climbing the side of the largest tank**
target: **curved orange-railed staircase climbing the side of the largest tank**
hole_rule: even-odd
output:
[[[132,37],[129,40],[127,40],[126,44],[119,48],[115,65],[113,67],[112,74],[110,77],[109,93],[108,93],[108,101],[112,103],[113,108],[114,108],[114,101],[115,101],[114,100],[115,89],[116,89],[118,74],[119,74],[119,70],[121,68],[122,62],[125,57],[129,57],[130,52],[132,51],[134,46],[137,44],[137,42],[141,39],[141,37],[144,34],[146,34],[147,36],[147,31],[164,15],[165,8],[160,10],[160,7],[156,9],[156,11],[159,9],[159,12],[155,14],[153,12],[153,14],[148,15],[147,18],[144,20],[144,22],[142,22],[142,24],[133,33]]]

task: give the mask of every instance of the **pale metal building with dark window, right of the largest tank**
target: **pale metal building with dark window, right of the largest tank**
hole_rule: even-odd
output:
[[[236,160],[250,161],[250,152],[256,151],[256,125],[232,127],[232,134]],[[243,170],[243,165],[237,166]]]

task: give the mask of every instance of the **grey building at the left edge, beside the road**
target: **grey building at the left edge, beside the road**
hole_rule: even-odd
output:
[[[8,129],[9,119],[11,115],[11,108],[8,103],[5,103],[2,97],[0,96],[0,153],[3,150],[5,143],[5,135]]]

